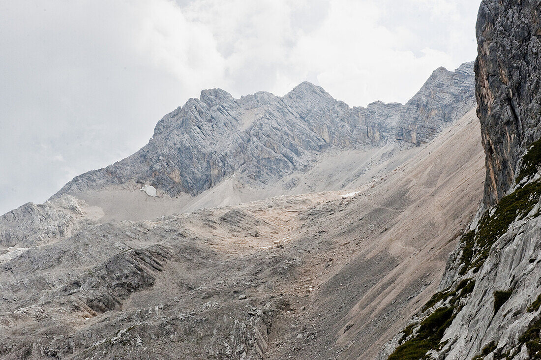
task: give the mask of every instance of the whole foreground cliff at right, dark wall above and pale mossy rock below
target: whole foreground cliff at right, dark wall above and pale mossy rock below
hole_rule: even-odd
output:
[[[481,3],[476,94],[484,203],[439,291],[381,359],[541,358],[539,1]]]

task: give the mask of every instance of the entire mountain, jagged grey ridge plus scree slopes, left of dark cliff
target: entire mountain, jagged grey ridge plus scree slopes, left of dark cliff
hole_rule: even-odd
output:
[[[374,358],[481,199],[473,92],[472,63],[406,104],[202,91],[0,217],[0,358]]]

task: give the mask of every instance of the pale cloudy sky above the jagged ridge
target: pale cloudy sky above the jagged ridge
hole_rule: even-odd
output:
[[[136,152],[202,89],[406,102],[476,57],[476,0],[0,2],[0,214]]]

